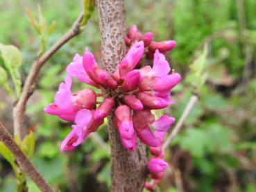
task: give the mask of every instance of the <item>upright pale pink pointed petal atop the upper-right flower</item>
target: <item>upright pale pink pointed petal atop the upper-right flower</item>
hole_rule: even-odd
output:
[[[167,62],[167,60],[165,60],[165,56],[159,53],[158,50],[156,50],[154,54],[152,70],[154,71],[156,76],[160,77],[166,76],[171,70],[169,63]]]

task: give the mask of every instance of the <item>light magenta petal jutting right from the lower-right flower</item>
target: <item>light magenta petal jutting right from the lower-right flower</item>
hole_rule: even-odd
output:
[[[162,115],[160,119],[157,119],[157,121],[152,124],[152,127],[157,131],[167,132],[167,130],[169,130],[171,124],[173,124],[174,121],[175,118],[167,115]]]

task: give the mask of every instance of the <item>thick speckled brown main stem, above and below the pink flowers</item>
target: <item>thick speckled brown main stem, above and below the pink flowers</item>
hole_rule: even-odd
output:
[[[101,62],[112,73],[126,54],[123,37],[126,22],[122,0],[98,0],[96,6],[101,31]],[[109,119],[108,133],[111,143],[111,191],[142,191],[146,179],[146,150],[137,140],[137,150],[123,148],[119,133]]]

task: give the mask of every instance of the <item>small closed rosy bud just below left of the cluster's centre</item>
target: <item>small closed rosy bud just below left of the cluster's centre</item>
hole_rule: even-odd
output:
[[[101,119],[108,116],[114,107],[114,98],[105,98],[103,103],[94,112],[95,119]]]

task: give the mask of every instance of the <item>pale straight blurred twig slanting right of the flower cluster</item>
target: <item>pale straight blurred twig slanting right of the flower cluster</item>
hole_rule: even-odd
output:
[[[167,148],[167,146],[169,146],[169,144],[171,143],[173,137],[176,136],[176,134],[178,133],[178,131],[180,130],[182,124],[184,123],[185,119],[187,118],[187,116],[189,115],[191,109],[194,107],[194,105],[196,104],[196,101],[198,101],[198,96],[196,95],[192,95],[189,98],[189,102],[187,103],[187,106],[185,108],[185,110],[183,111],[178,123],[176,124],[176,126],[173,128],[173,131],[171,132],[171,134],[169,134],[169,136],[167,137],[167,140],[164,142],[164,145],[162,146],[162,150],[165,150]]]

